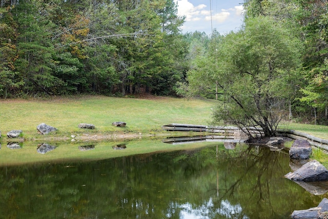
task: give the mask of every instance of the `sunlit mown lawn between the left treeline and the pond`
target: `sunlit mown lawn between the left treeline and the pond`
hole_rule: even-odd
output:
[[[38,138],[41,123],[58,129],[48,136],[108,133],[157,133],[170,123],[209,124],[215,101],[185,98],[115,98],[82,96],[75,98],[14,99],[0,102],[2,136],[10,130],[23,130],[26,139]],[[126,122],[125,128],[112,126]],[[79,123],[95,125],[94,130],[79,129]]]

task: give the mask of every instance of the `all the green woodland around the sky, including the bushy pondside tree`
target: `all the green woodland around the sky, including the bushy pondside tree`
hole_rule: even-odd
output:
[[[1,0],[0,96],[197,95],[242,126],[327,124],[327,5],[245,0],[239,31],[207,35],[175,0]]]

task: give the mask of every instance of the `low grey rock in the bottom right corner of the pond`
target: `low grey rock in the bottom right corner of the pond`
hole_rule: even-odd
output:
[[[318,207],[308,210],[297,210],[292,213],[292,218],[297,219],[324,219],[328,217],[328,199],[323,198]]]

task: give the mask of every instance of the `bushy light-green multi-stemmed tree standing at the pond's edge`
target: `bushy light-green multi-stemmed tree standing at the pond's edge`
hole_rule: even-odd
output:
[[[300,44],[269,17],[249,18],[242,30],[224,37],[207,68],[220,88],[222,105],[214,121],[255,127],[274,136],[295,88]],[[214,74],[214,75],[213,75]]]

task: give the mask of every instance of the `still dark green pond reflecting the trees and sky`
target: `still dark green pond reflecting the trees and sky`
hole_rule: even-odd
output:
[[[35,146],[33,151],[51,157],[70,147],[75,154],[86,154],[110,144],[109,150],[127,153],[134,145],[149,143],[115,143],[125,145],[116,150],[113,143],[94,143],[83,152],[77,144],[63,144],[46,154],[37,153]],[[169,146],[180,149],[181,144]],[[30,146],[11,149],[3,144],[0,158],[8,162],[0,166],[0,218],[290,218],[294,210],[315,207],[326,196],[284,178],[292,171],[286,150],[195,144],[102,160],[47,158],[15,165],[4,156],[20,157],[24,150],[29,154]]]

